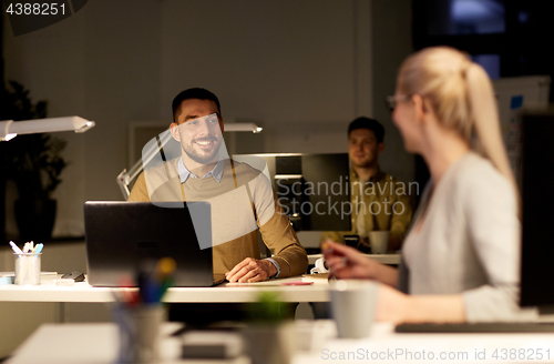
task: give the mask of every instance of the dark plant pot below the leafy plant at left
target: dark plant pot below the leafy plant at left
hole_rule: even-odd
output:
[[[55,200],[16,200],[16,223],[22,240],[52,237],[55,221]]]

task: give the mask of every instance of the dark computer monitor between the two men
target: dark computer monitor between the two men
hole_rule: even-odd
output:
[[[237,154],[270,178],[277,199],[296,231],[350,231],[347,153]]]

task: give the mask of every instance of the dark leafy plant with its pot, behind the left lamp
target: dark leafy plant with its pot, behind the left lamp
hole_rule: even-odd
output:
[[[32,103],[29,91],[16,81],[3,90],[1,120],[30,120],[47,117],[45,101]],[[14,181],[19,200],[14,212],[21,239],[49,239],[55,220],[57,202],[52,192],[66,166],[61,152],[66,143],[50,134],[18,135],[0,143],[2,174]]]

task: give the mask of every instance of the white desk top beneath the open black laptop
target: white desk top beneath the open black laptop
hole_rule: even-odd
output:
[[[59,275],[42,276],[41,285],[1,285],[0,301],[11,302],[114,302],[113,289],[92,287],[86,282],[72,287],[54,286]],[[284,302],[329,301],[327,280],[316,279],[312,285],[284,286],[284,282],[308,281],[301,276],[270,280],[259,283],[224,283],[215,287],[173,287],[164,302],[254,302],[258,292],[278,292]],[[119,289],[115,289],[119,290]],[[133,290],[133,289],[130,289]]]

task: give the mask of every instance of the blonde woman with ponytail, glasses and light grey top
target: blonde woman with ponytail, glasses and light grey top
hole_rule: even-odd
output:
[[[535,311],[517,304],[519,198],[485,71],[455,49],[428,48],[402,63],[388,102],[406,150],[423,156],[431,180],[398,271],[329,242],[331,273],[383,283],[378,320],[533,320]]]

